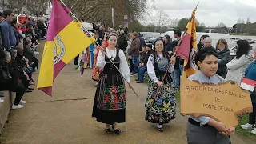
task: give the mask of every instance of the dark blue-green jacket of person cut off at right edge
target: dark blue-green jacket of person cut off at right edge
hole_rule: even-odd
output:
[[[256,60],[251,62],[251,64],[246,68],[245,78],[256,81]],[[256,91],[250,94],[251,102],[256,104]]]

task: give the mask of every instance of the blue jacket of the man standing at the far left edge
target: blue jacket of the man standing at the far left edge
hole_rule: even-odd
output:
[[[2,46],[6,48],[6,50],[10,50],[11,47],[16,46],[14,30],[12,26],[10,26],[10,23],[6,20],[3,20],[0,26],[2,32]]]

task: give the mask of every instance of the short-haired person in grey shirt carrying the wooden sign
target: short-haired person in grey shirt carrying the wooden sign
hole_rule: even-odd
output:
[[[195,62],[199,71],[188,78],[190,81],[215,85],[225,82],[224,78],[216,74],[218,70],[218,52],[214,48],[205,47],[199,50],[195,56]],[[190,115],[189,117],[186,126],[188,144],[230,143],[228,136],[234,134],[234,127],[228,129],[222,122],[206,116],[195,118]]]

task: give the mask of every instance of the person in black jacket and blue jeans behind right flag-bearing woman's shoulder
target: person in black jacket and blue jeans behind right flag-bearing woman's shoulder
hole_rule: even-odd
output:
[[[143,50],[144,48],[142,48]],[[146,73],[146,63],[150,57],[150,54],[153,54],[154,50],[152,50],[152,45],[148,44],[146,45],[146,53],[143,54],[142,61],[139,62],[138,66],[138,79],[136,79],[137,83],[143,83],[144,82],[144,74]]]

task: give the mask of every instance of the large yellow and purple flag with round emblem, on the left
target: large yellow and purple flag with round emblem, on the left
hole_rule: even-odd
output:
[[[68,11],[53,0],[46,44],[38,78],[38,90],[52,95],[54,79],[67,63],[85,50],[94,38],[89,38],[80,29],[81,23],[74,22]]]

